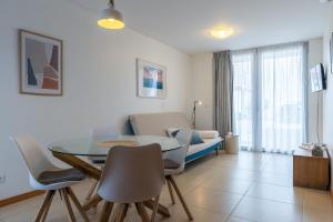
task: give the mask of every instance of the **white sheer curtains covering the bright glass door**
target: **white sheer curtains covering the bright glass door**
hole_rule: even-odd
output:
[[[245,150],[291,153],[306,141],[306,43],[233,53],[233,130]]]

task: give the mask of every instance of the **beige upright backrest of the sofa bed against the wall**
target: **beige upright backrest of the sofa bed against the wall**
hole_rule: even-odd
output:
[[[182,112],[164,112],[130,115],[130,123],[137,135],[165,137],[169,128],[191,128]]]

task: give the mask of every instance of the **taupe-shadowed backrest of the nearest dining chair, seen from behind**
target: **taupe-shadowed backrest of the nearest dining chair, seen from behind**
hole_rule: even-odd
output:
[[[109,202],[133,203],[160,195],[164,184],[161,147],[110,149],[98,194]]]

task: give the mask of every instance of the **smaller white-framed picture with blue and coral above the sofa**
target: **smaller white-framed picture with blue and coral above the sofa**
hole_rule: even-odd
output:
[[[138,97],[167,98],[167,68],[137,59]]]

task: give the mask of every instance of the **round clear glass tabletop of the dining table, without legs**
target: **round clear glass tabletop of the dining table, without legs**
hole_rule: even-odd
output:
[[[107,157],[109,150],[115,145],[141,147],[159,143],[162,152],[183,148],[174,138],[155,135],[117,135],[107,138],[80,138],[58,141],[48,145],[51,152],[59,152],[71,155]]]

